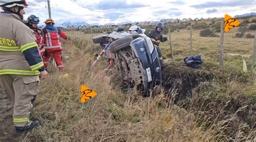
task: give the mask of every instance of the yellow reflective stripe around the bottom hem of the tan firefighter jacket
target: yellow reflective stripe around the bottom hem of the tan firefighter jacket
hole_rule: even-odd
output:
[[[13,69],[5,69],[0,70],[0,75],[40,75],[39,71],[26,71],[26,70],[13,70]]]

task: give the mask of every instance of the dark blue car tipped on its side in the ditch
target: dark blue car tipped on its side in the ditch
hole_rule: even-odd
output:
[[[122,79],[122,87],[136,87],[143,96],[158,92],[161,83],[161,64],[152,40],[144,34],[117,30],[92,38],[105,48],[105,57],[114,60],[114,69]]]

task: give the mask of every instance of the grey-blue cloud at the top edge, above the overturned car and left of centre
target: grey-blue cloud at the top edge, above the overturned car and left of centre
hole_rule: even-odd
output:
[[[109,9],[129,9],[129,8],[143,8],[149,5],[140,3],[127,3],[126,1],[101,1],[95,5],[96,9],[109,10]],[[87,6],[86,6],[87,7]]]

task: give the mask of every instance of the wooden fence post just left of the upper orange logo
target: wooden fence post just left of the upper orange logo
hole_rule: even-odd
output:
[[[224,18],[220,20],[220,45],[219,45],[219,54],[220,54],[220,67],[223,68],[224,65]]]

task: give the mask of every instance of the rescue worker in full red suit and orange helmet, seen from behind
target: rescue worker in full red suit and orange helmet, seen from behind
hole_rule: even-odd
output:
[[[52,55],[56,61],[59,71],[64,71],[62,62],[62,44],[60,42],[60,37],[66,39],[66,33],[63,32],[60,28],[54,26],[55,22],[51,18],[46,19],[45,24],[46,26],[43,29],[45,45],[45,52],[43,57],[44,67],[47,69],[49,59]]]

